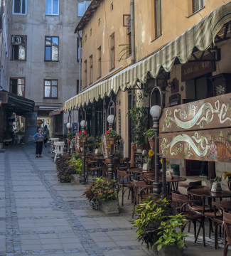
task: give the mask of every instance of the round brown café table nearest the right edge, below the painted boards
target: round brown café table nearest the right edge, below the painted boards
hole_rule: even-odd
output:
[[[231,198],[231,191],[212,192],[205,188],[196,188],[188,191],[192,196],[198,196],[203,198],[203,213],[205,212],[205,199],[208,198],[210,203],[210,210],[212,210],[212,199],[215,202],[216,198]]]

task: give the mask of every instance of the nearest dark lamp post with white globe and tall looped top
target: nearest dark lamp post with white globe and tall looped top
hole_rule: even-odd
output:
[[[151,96],[155,90],[159,90],[161,95],[161,106],[155,105],[152,106],[150,109],[150,114],[154,121],[154,132],[155,132],[155,182],[153,183],[154,189],[153,193],[154,196],[159,196],[161,193],[161,183],[159,182],[159,119],[161,117],[161,112],[163,109],[163,92],[161,91],[161,87],[155,86],[154,89],[151,91]],[[150,97],[150,106],[151,106],[151,97]],[[165,170],[163,170],[165,172]],[[166,177],[166,176],[165,176]],[[164,178],[164,177],[163,177]],[[166,178],[163,180],[163,194],[166,193]]]

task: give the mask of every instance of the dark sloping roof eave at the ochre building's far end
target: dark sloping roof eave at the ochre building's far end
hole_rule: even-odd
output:
[[[97,11],[97,8],[100,6],[104,0],[93,0],[90,3],[90,6],[88,6],[87,11],[85,11],[85,14],[82,16],[80,22],[77,24],[77,27],[75,28],[75,33],[77,31],[82,31],[83,28],[87,25],[88,21],[92,18],[92,16],[95,14],[95,11]]]

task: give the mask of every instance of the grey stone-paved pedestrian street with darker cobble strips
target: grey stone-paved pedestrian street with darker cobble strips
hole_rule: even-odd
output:
[[[92,210],[82,196],[87,185],[58,182],[48,151],[37,159],[34,144],[11,145],[0,154],[0,256],[152,255],[134,236],[131,201],[118,216]],[[222,255],[213,239],[207,247],[187,240],[187,256]]]

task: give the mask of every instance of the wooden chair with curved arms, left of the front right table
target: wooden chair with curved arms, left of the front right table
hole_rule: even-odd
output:
[[[186,209],[186,206],[190,206],[192,204],[200,203],[200,200],[191,200],[188,199],[187,196],[179,195],[177,193],[172,193],[172,202],[173,208],[177,211],[177,213],[182,213],[186,215],[186,219],[188,223],[192,222],[194,224],[194,242],[198,240],[198,235],[200,233],[200,228],[203,230],[203,245],[205,246],[205,216],[202,213],[195,212],[193,210],[183,210]],[[199,223],[198,233],[196,232],[196,223]],[[186,225],[188,224],[186,223]],[[183,226],[182,231],[186,228],[186,225]]]

